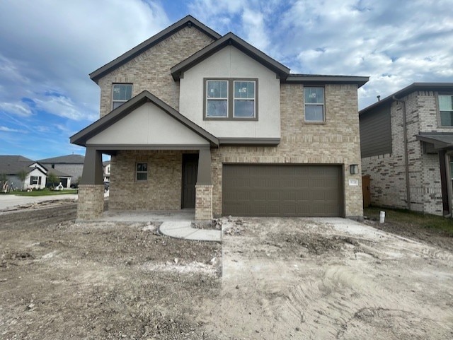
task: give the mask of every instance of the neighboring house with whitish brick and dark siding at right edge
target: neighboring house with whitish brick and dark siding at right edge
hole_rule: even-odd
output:
[[[371,203],[451,214],[453,83],[413,83],[359,115]]]

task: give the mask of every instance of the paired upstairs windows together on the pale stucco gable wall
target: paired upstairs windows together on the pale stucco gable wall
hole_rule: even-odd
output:
[[[258,119],[258,79],[205,79],[204,119]]]

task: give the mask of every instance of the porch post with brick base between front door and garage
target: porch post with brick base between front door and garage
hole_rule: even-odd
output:
[[[195,185],[195,220],[212,220],[211,150],[201,148]]]

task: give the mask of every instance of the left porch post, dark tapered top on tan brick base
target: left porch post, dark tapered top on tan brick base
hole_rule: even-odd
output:
[[[104,212],[104,184],[102,153],[96,148],[87,147],[84,171],[79,185],[77,221],[89,221],[100,218]]]

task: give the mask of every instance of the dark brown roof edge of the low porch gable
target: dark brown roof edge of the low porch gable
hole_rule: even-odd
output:
[[[142,93],[139,93],[136,95],[134,98],[128,100],[125,102],[123,105],[120,107],[117,107],[115,110],[112,112],[108,113],[101,119],[98,119],[96,122],[94,122],[91,125],[88,125],[85,129],[79,131],[78,133],[74,134],[74,136],[70,137],[70,141],[73,144],[77,144],[80,146],[86,146],[86,141],[90,139],[93,136],[96,136],[96,134],[99,134],[101,131],[107,129],[111,125],[115,124],[115,122],[118,122],[120,119],[128,115],[130,112],[134,111],[137,109],[137,107],[142,106],[146,102],[152,102],[154,105],[159,107],[161,110],[166,112],[168,115],[176,119],[178,122],[183,124],[185,127],[188,127],[190,130],[194,131],[196,134],[199,136],[202,136],[202,138],[206,139],[207,141],[210,142],[211,146],[218,146],[219,145],[219,139],[217,137],[213,136],[209,132],[207,132],[205,129],[202,129],[202,127],[199,127],[197,124],[192,122],[190,119],[187,117],[181,115],[178,111],[173,109],[170,105],[166,104],[164,101],[160,100],[157,98],[155,95],[150,93],[147,90],[144,90]]]

